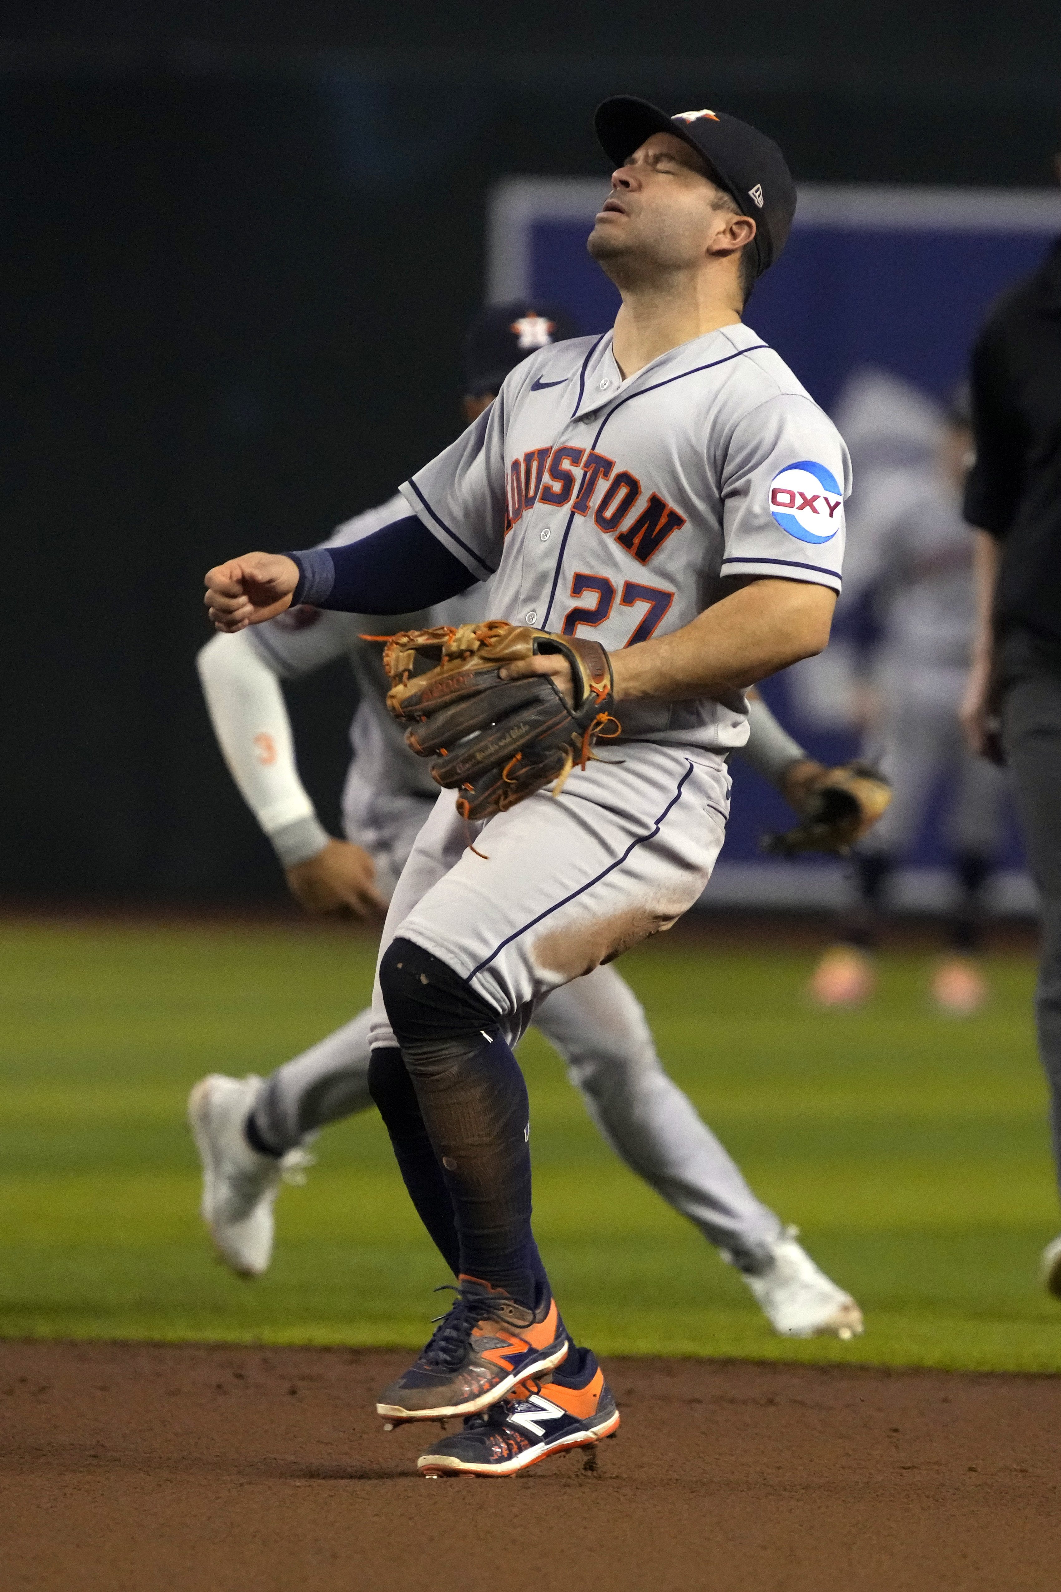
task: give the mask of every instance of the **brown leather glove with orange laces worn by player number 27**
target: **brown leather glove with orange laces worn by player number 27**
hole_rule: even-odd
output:
[[[382,640],[382,637],[377,637]],[[547,675],[501,680],[506,664],[534,653],[563,653],[571,665],[574,707]],[[418,659],[439,659],[415,673]],[[492,818],[554,785],[595,756],[593,742],[619,734],[611,715],[612,673],[600,642],[554,635],[528,626],[485,624],[401,630],[387,638],[387,707],[409,724],[406,743],[433,758],[431,778],[458,790],[464,818]]]

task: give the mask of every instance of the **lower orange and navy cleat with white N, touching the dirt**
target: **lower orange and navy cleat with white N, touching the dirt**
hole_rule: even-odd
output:
[[[574,1348],[560,1371],[527,1380],[463,1431],[442,1438],[417,1460],[423,1477],[515,1476],[550,1453],[587,1449],[619,1426],[604,1372],[589,1348]]]

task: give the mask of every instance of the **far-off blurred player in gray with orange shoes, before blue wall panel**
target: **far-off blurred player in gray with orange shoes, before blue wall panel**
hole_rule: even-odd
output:
[[[956,901],[948,954],[931,989],[940,1011],[970,1016],[988,993],[975,952],[1004,778],[969,753],[958,716],[975,627],[972,548],[961,511],[972,447],[969,400],[958,392],[940,416],[905,382],[865,373],[851,384],[838,423],[859,479],[840,611],[872,605],[878,638],[864,651],[856,712],[867,756],[891,780],[892,802],[853,853],[857,903],[840,919],[811,995],[821,1006],[857,1006],[873,993],[872,952],[889,880],[946,782],[942,826]]]

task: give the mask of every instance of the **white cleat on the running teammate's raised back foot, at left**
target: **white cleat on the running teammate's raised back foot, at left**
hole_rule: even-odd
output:
[[[280,1183],[304,1183],[304,1149],[261,1156],[243,1135],[261,1078],[200,1078],[188,1097],[188,1124],[202,1161],[200,1213],[218,1254],[240,1277],[261,1277],[272,1259],[272,1207]]]

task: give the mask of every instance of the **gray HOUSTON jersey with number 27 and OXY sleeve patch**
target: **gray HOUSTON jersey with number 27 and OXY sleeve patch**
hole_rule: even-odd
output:
[[[612,651],[689,624],[724,576],[840,591],[848,490],[832,420],[744,325],[625,380],[611,333],[546,347],[401,487],[474,578],[496,572],[493,618]],[[622,721],[698,750],[748,739],[741,693],[630,704]]]

